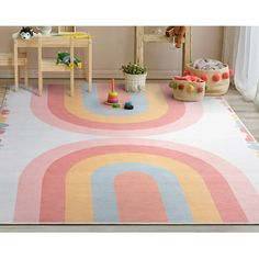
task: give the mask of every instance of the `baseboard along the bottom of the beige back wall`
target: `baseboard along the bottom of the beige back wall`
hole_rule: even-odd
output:
[[[148,79],[171,79],[172,76],[180,75],[181,70],[148,70]],[[23,72],[21,71],[21,77],[23,78]],[[30,69],[29,74],[30,78],[37,78],[37,70]],[[76,71],[75,77],[80,79],[83,78],[83,71]],[[13,78],[13,70],[12,69],[1,69],[0,70],[0,78],[8,79]],[[69,74],[67,72],[47,72],[44,78],[69,78]],[[105,78],[123,78],[123,74],[121,70],[102,70],[97,69],[93,70],[93,78],[105,79]]]

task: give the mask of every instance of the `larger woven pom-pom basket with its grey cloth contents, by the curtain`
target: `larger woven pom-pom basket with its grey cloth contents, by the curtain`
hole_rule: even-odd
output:
[[[210,58],[199,58],[185,65],[183,75],[193,75],[206,83],[207,95],[222,95],[228,91],[233,70],[226,64]]]

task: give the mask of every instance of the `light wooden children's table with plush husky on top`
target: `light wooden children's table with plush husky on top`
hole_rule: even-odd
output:
[[[41,37],[44,37],[48,42],[48,46],[50,48],[61,48],[64,47],[63,38],[66,37],[74,37],[74,47],[75,48],[83,48],[85,49],[85,60],[87,60],[87,64],[83,65],[85,67],[85,78],[88,81],[89,85],[89,91],[91,91],[92,88],[92,38],[88,34],[83,33],[76,33],[76,34],[52,34],[52,35],[41,35]],[[46,41],[45,41],[46,42]],[[38,38],[37,36],[32,37],[30,40],[22,40],[22,38],[15,38],[14,40],[14,85],[15,85],[15,91],[19,89],[19,68],[18,68],[18,54],[19,48],[37,48],[38,47]]]

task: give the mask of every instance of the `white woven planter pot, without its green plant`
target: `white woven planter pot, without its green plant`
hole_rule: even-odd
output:
[[[125,91],[127,92],[145,91],[147,74],[143,75],[124,74],[124,77],[125,77]]]

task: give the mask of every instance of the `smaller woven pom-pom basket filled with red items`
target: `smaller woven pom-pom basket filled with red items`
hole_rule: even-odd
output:
[[[173,98],[180,101],[198,102],[204,98],[205,81],[195,76],[177,76],[169,85]]]

